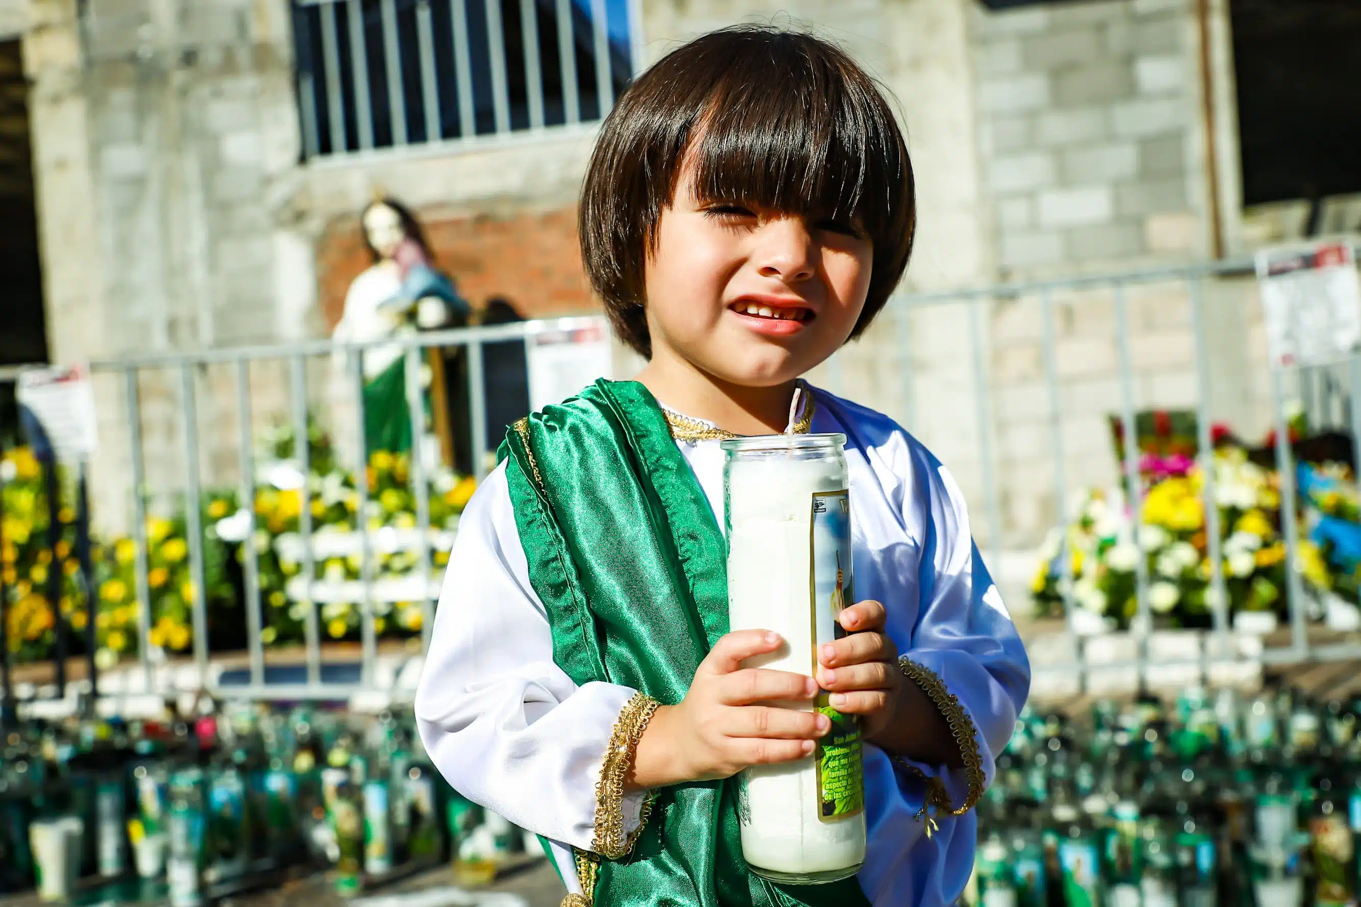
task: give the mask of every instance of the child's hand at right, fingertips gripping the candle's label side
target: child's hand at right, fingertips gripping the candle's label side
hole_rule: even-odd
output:
[[[818,684],[832,692],[832,707],[864,718],[867,740],[875,740],[893,721],[905,677],[898,669],[898,647],[883,632],[887,612],[876,601],[862,601],[841,612],[851,631],[818,651]]]

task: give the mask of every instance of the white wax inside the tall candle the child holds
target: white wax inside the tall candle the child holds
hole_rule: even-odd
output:
[[[727,465],[728,619],[732,630],[770,630],[784,645],[751,668],[813,674],[814,495],[845,491],[840,457],[762,456]],[[844,498],[833,498],[841,506]],[[844,522],[847,532],[849,521]],[[826,540],[823,540],[825,543]],[[849,575],[849,564],[845,564]],[[851,604],[851,602],[847,602]],[[830,620],[830,602],[819,611]],[[829,634],[823,626],[823,635]],[[813,710],[813,703],[787,707]],[[859,766],[856,764],[856,771]],[[864,813],[823,819],[815,756],[743,772],[742,850],[772,877],[836,878],[864,859]]]

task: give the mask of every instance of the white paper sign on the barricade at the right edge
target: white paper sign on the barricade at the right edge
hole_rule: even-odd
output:
[[[1258,281],[1277,369],[1349,356],[1361,345],[1361,280],[1350,242],[1264,249]]]

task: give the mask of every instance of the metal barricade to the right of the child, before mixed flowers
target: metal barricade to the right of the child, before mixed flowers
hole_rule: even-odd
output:
[[[905,427],[917,434],[928,446],[936,447],[951,431],[949,424],[928,424],[917,419],[919,401],[915,397],[915,383],[924,375],[915,374],[913,352],[911,343],[917,340],[916,329],[912,326],[913,318],[919,313],[936,307],[965,307],[966,315],[961,321],[964,341],[968,351],[958,348],[958,340],[949,337],[943,340],[954,344],[951,349],[962,360],[969,363],[972,373],[972,417],[979,428],[977,449],[983,461],[981,476],[972,483],[969,503],[974,513],[974,526],[981,528],[976,533],[983,537],[980,548],[985,553],[985,560],[998,566],[1007,560],[1011,549],[1033,552],[1043,541],[1043,536],[1028,534],[1025,529],[1007,525],[1003,515],[1003,496],[1014,494],[1019,483],[1049,484],[1047,495],[1049,502],[1049,519],[1044,529],[1060,533],[1063,538],[1060,556],[1057,558],[1057,587],[1063,597],[1064,630],[1062,645],[1055,646],[1056,651],[1064,653],[1057,660],[1048,664],[1034,664],[1036,674],[1051,674],[1051,680],[1066,679],[1060,684],[1062,689],[1077,692],[1083,688],[1082,681],[1090,679],[1093,673],[1105,672],[1132,672],[1131,676],[1139,679],[1135,684],[1146,683],[1157,672],[1166,672],[1169,677],[1185,677],[1185,683],[1199,683],[1211,680],[1218,673],[1232,674],[1233,666],[1243,662],[1253,662],[1258,666],[1278,666],[1312,661],[1349,661],[1361,660],[1361,635],[1357,632],[1311,632],[1311,621],[1307,615],[1308,597],[1301,582],[1300,549],[1302,528],[1298,521],[1298,495],[1296,488],[1296,457],[1292,450],[1289,427],[1286,424],[1285,405],[1288,397],[1293,397],[1301,407],[1304,415],[1313,426],[1332,428],[1350,435],[1353,450],[1361,451],[1361,356],[1351,356],[1322,366],[1296,367],[1288,370],[1273,370],[1267,367],[1264,344],[1258,355],[1249,355],[1256,366],[1253,378],[1267,378],[1267,405],[1270,409],[1270,428],[1274,443],[1274,469],[1279,477],[1279,533],[1286,548],[1286,570],[1283,596],[1288,602],[1288,620],[1282,638],[1281,632],[1264,634],[1260,646],[1255,636],[1236,632],[1230,620],[1229,594],[1226,593],[1225,558],[1222,551],[1224,537],[1230,528],[1219,525],[1221,509],[1217,503],[1214,439],[1211,437],[1214,413],[1210,409],[1211,389],[1218,377],[1214,374],[1209,341],[1214,337],[1217,328],[1207,321],[1206,292],[1210,287],[1222,287],[1226,283],[1240,280],[1237,290],[1236,317],[1243,321],[1260,320],[1260,306],[1256,298],[1256,283],[1253,277],[1253,262],[1251,258],[1226,260],[1213,264],[1199,264],[1170,268],[1150,268],[1127,273],[1102,273],[1077,276],[1032,283],[1014,283],[994,286],[966,291],[931,292],[931,294],[898,294],[890,303],[891,317],[896,324],[900,355],[894,363],[900,371],[901,392],[891,412],[900,413]],[[1131,517],[1124,522],[1123,541],[1135,545],[1141,544],[1141,534],[1145,524],[1141,517],[1141,506],[1147,487],[1141,473],[1141,454],[1136,438],[1136,415],[1143,408],[1158,408],[1160,401],[1147,398],[1154,394],[1143,394],[1141,386],[1147,383],[1150,374],[1155,370],[1147,366],[1138,367],[1131,355],[1131,337],[1135,330],[1131,328],[1130,295],[1146,291],[1147,288],[1166,288],[1168,295],[1184,298],[1185,332],[1191,339],[1192,363],[1195,378],[1195,400],[1177,401],[1184,405],[1190,403],[1194,409],[1196,423],[1196,466],[1203,476],[1200,496],[1204,514],[1204,563],[1209,570],[1209,593],[1211,626],[1203,631],[1203,638],[1190,642],[1195,654],[1190,654],[1184,646],[1180,651],[1168,657],[1165,653],[1150,649],[1154,613],[1150,608],[1150,587],[1155,578],[1150,577],[1150,567],[1142,553],[1134,564],[1134,590],[1136,600],[1136,616],[1124,639],[1128,646],[1115,649],[1104,645],[1111,634],[1081,632],[1074,627],[1074,616],[1079,611],[1074,601],[1074,558],[1067,541],[1067,533],[1074,514],[1071,500],[1075,492],[1082,488],[1074,481],[1074,454],[1066,450],[1071,442],[1071,432],[1066,431],[1066,405],[1071,381],[1063,378],[1064,356],[1062,343],[1056,329],[1056,311],[1059,298],[1063,296],[1070,305],[1106,306],[1109,310],[1111,335],[1113,341],[1113,362],[1109,369],[1108,397],[1109,415],[1119,417],[1123,434],[1124,456],[1119,464],[1119,484],[1126,495],[1128,513]],[[1074,302],[1078,301],[1078,302]],[[1004,379],[996,378],[989,370],[988,341],[983,326],[999,306],[1029,305],[1038,310],[1037,326],[1034,328],[1033,343],[1038,348],[1038,364],[1034,369],[1036,381],[1043,388],[1044,415],[1036,422],[1044,422],[1048,458],[1051,466],[1048,476],[1026,475],[1019,477],[1009,475],[996,441],[998,423],[995,416],[998,392],[1006,390]],[[999,326],[999,335],[1004,328]],[[1006,341],[1004,336],[998,336],[998,341]],[[844,373],[848,362],[855,354],[842,351],[837,359],[844,362],[829,369],[832,381]],[[1179,405],[1161,408],[1180,408]],[[962,407],[961,409],[966,409]],[[966,419],[962,416],[961,419]],[[936,453],[940,453],[939,450]],[[942,460],[949,465],[945,456]],[[981,519],[980,517],[981,511]],[[1015,589],[1013,589],[1015,592]],[[1349,602],[1357,604],[1357,602]],[[1023,615],[1023,604],[1013,605],[1013,612]],[[1319,636],[1332,636],[1320,640]],[[1247,640],[1247,645],[1243,645]],[[1060,642],[1051,639],[1051,642]],[[1097,645],[1101,642],[1102,645]],[[1177,646],[1172,646],[1177,649]],[[1123,655],[1111,657],[1112,651]],[[1224,669],[1228,669],[1226,672]]]

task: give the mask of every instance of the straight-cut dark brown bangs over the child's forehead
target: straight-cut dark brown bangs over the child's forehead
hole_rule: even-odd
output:
[[[836,60],[789,45],[735,54],[712,86],[682,155],[694,165],[695,200],[856,218],[878,233],[901,207],[889,190],[906,162],[897,124],[872,83],[847,80]]]

